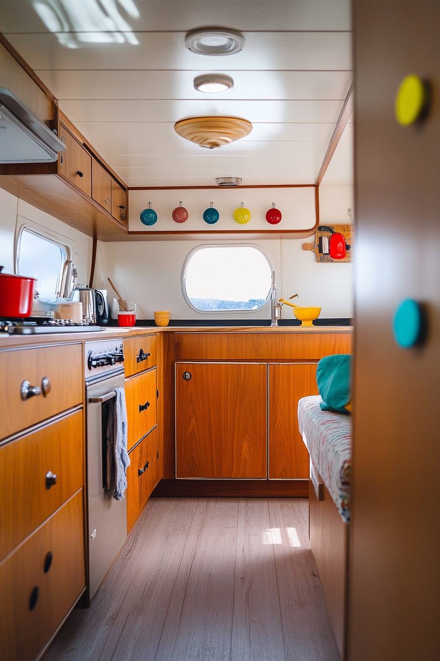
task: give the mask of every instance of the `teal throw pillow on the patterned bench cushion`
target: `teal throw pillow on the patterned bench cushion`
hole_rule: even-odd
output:
[[[319,394],[323,400],[321,409],[349,414],[351,412],[351,371],[350,354],[337,354],[321,358],[316,370]]]

